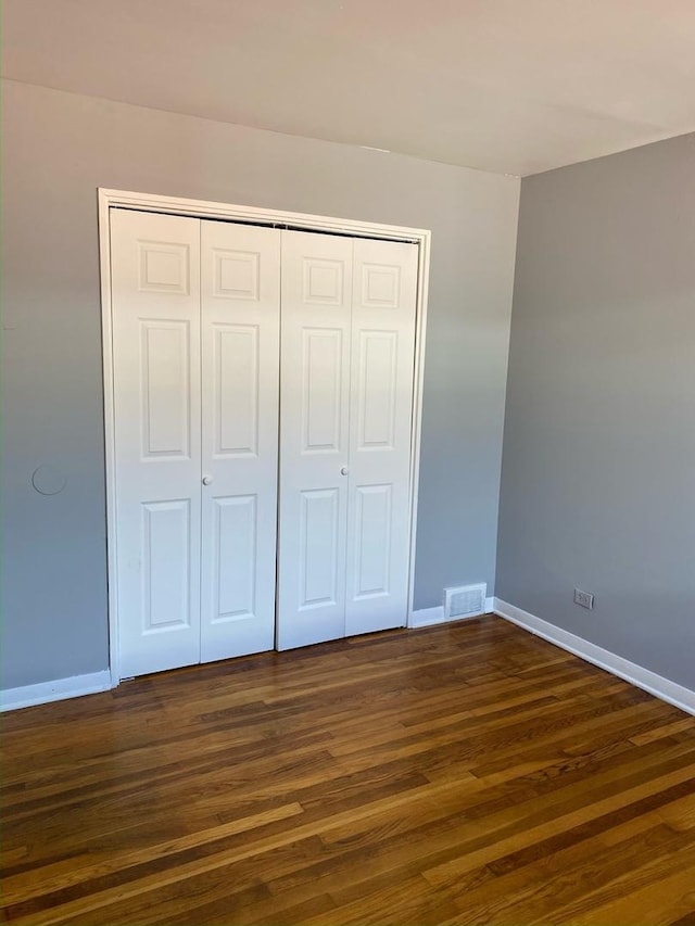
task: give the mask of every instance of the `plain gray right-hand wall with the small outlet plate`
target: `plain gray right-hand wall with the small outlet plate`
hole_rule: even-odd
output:
[[[497,595],[695,688],[695,136],[521,183]]]

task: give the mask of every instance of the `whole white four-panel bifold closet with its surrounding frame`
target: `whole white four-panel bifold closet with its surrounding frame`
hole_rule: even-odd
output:
[[[429,231],[99,206],[112,683],[409,624]]]

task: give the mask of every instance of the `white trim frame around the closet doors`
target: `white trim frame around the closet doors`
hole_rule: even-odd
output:
[[[352,238],[376,238],[388,241],[405,241],[418,246],[417,302],[415,320],[415,366],[413,381],[413,419],[410,432],[410,487],[409,487],[409,562],[408,606],[406,626],[412,626],[414,595],[414,563],[417,534],[417,499],[419,482],[420,433],[422,418],[422,384],[425,373],[425,337],[427,330],[427,294],[429,281],[431,232],[422,228],[381,225],[334,216],[318,216],[283,210],[256,208],[230,203],[204,200],[161,196],[127,190],[100,188],[99,199],[99,256],[101,270],[101,330],[104,392],[104,452],[106,465],[106,555],[109,584],[109,650],[111,685],[121,681],[118,663],[118,600],[116,588],[116,563],[118,537],[116,535],[116,485],[115,485],[115,429],[113,389],[113,337],[111,295],[111,210],[131,208],[139,212],[157,212],[191,218],[225,219],[261,226],[291,228],[298,231],[325,231]]]

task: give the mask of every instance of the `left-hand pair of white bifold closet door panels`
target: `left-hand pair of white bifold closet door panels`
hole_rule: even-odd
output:
[[[270,649],[280,232],[111,217],[121,675]]]

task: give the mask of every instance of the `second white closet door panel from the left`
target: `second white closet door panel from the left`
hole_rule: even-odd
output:
[[[201,659],[271,649],[280,231],[201,223]]]

